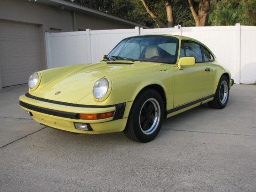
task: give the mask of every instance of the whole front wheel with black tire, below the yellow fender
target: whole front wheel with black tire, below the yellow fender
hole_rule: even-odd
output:
[[[125,135],[133,141],[146,143],[159,133],[164,120],[164,102],[152,89],[141,92],[133,102]]]

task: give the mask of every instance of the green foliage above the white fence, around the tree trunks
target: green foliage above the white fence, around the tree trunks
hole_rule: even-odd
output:
[[[73,0],[73,2],[144,26],[157,27],[155,21],[145,10],[141,0]],[[166,23],[166,0],[146,0],[146,2],[149,9]],[[173,7],[175,25],[195,26],[187,0],[170,0],[170,2]],[[195,7],[198,7],[199,0],[194,0],[194,3]],[[256,25],[256,0],[211,1],[209,26],[235,25],[235,23]]]

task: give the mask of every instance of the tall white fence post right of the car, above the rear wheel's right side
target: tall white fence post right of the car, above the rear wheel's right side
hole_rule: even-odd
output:
[[[241,26],[240,23],[235,24],[235,68],[239,71],[238,83],[241,83]]]

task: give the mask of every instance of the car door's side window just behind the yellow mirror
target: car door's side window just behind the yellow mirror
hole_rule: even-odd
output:
[[[193,42],[183,42],[183,49],[185,50],[186,57],[196,58],[196,62],[203,62],[202,52],[200,45]]]

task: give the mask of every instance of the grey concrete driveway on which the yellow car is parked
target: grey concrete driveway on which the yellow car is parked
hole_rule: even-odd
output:
[[[26,91],[0,91],[0,191],[256,190],[255,85],[234,85],[223,110],[166,119],[147,144],[46,128],[19,107]]]

